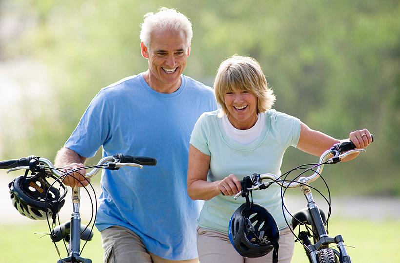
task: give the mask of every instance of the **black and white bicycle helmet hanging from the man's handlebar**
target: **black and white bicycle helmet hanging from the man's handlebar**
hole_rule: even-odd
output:
[[[47,182],[45,172],[30,176],[22,175],[8,184],[13,206],[21,215],[33,220],[47,218],[53,218],[54,220],[56,218],[57,213],[65,203],[64,197],[67,188],[55,176],[50,175],[50,172],[48,173],[48,177],[56,179],[64,189],[62,195],[59,189]]]

